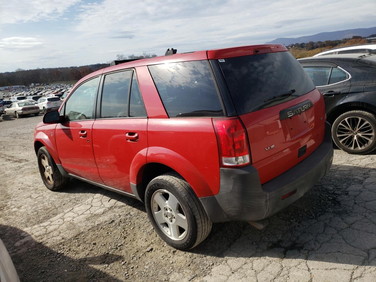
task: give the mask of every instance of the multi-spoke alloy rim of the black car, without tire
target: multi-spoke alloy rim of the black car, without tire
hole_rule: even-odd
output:
[[[361,117],[347,117],[336,130],[340,144],[349,150],[362,150],[374,141],[375,129],[372,124]]]

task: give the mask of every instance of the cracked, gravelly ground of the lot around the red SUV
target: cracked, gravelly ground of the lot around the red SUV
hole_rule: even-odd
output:
[[[376,155],[335,150],[329,175],[264,230],[214,224],[180,252],[136,200],[76,180],[47,190],[32,146],[41,120],[0,122],[0,238],[21,282],[376,281]]]

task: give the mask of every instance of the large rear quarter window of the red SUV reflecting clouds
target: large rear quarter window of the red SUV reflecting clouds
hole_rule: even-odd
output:
[[[169,117],[223,116],[209,61],[150,65],[149,71]]]

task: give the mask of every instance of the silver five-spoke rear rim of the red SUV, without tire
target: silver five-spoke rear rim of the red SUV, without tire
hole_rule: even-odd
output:
[[[153,217],[158,227],[172,240],[183,240],[188,233],[188,220],[182,205],[167,190],[157,190],[151,199]]]

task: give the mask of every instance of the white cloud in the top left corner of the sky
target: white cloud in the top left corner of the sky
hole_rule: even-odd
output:
[[[0,0],[0,24],[56,20],[80,0]]]

